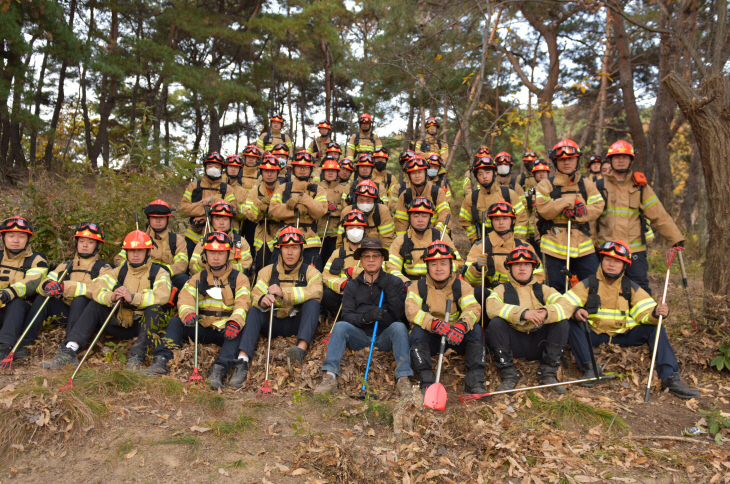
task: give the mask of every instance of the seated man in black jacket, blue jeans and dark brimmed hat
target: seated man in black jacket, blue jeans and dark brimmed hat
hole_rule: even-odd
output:
[[[378,351],[392,351],[395,358],[396,388],[401,396],[411,390],[413,375],[409,355],[408,328],[405,321],[406,288],[398,277],[383,270],[388,249],[380,239],[369,237],[353,254],[362,263],[363,272],[345,286],[342,295],[342,315],[330,336],[327,356],[322,364],[325,373],[314,393],[335,393],[340,361],[345,348],[353,351],[370,347],[378,322],[375,346]],[[381,294],[382,306],[379,306]]]

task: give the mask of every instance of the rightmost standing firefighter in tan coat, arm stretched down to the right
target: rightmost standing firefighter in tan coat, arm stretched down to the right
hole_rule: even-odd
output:
[[[597,182],[606,197],[606,210],[598,219],[598,242],[628,241],[632,261],[626,268],[626,277],[651,294],[646,244],[654,238],[652,227],[674,247],[684,247],[684,236],[646,183],[644,174],[631,170],[634,159],[631,145],[617,141],[608,149],[606,158],[612,169]]]

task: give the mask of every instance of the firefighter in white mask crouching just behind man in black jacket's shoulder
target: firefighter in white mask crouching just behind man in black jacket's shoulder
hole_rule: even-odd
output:
[[[322,292],[322,311],[329,317],[334,318],[342,304],[342,294],[345,291],[347,282],[357,277],[362,272],[360,263],[353,259],[360,242],[365,237],[365,230],[368,222],[365,214],[358,209],[352,209],[342,217],[342,246],[327,259],[324,266],[322,279],[324,289]]]

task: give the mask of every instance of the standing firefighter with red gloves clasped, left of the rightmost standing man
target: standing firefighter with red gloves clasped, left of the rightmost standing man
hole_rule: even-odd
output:
[[[550,285],[565,290],[566,260],[579,280],[595,274],[598,258],[591,238],[591,224],[603,212],[605,202],[593,180],[580,174],[580,148],[565,139],[550,150],[550,159],[557,172],[543,180],[535,192],[537,229],[540,250],[547,260]],[[571,222],[570,254],[568,253],[568,221]]]

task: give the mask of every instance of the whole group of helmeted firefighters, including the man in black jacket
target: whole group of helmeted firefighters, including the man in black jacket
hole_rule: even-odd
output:
[[[221,348],[208,383],[241,388],[260,335],[269,344],[296,336],[286,359],[297,373],[318,325],[333,324],[318,393],[337,391],[346,348],[373,345],[393,352],[401,395],[414,376],[425,391],[445,341],[465,355],[469,394],[487,392],[488,354],[501,374],[497,390],[516,388],[514,360],[525,358],[539,360],[540,384],[565,393],[558,368],[568,343],[584,372],[579,384],[593,386],[601,376],[593,347],[613,343],[656,344],[662,389],[699,397],[681,382],[664,327],[657,337],[669,308],[652,298],[647,276],[652,230],[675,250],[684,238],[631,169],[629,143],[611,145],[605,160],[592,157],[586,175],[571,140],[549,151],[554,172],[528,151],[521,175],[508,153],[492,157],[482,146],[456,214],[436,119],[400,154],[401,174],[388,171],[368,114],[344,153],[327,121],[295,153],[283,124],[273,116],[240,156],[204,158],[179,205],[189,218],[184,236],[170,230],[170,204],[154,200],[146,229],[124,238],[113,263],[99,259],[107,241],[94,222],[78,225],[73,259],[50,270],[31,248],[28,220],[5,220],[0,359],[27,357],[43,323],[56,321],[66,337],[41,367],[77,365],[102,328],[133,340],[128,371],[164,375],[173,350],[197,334]],[[471,243],[465,259],[449,236],[456,223]]]

